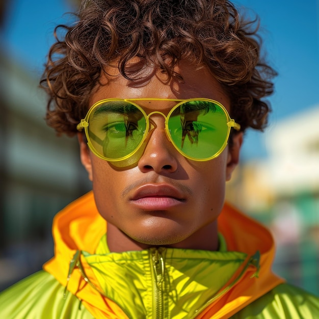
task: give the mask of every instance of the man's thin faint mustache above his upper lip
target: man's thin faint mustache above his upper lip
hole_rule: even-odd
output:
[[[125,198],[125,196],[127,194],[129,194],[129,192],[131,192],[132,190],[139,188],[142,185],[145,184],[170,184],[173,185],[173,187],[175,187],[178,190],[181,190],[183,193],[188,194],[189,196],[193,195],[193,191],[191,188],[189,188],[188,186],[176,181],[175,179],[171,179],[168,177],[157,177],[156,179],[151,179],[151,178],[141,178],[139,180],[136,180],[132,183],[130,183],[127,187],[124,188],[124,190],[121,192],[121,198]]]

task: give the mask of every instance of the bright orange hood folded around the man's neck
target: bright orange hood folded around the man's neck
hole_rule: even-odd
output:
[[[81,299],[96,318],[112,317],[112,315],[124,318],[127,317],[125,314],[127,309],[123,310],[113,301],[117,298],[103,296],[109,293],[103,284],[104,280],[98,274],[100,270],[96,271],[95,268],[91,267],[92,258],[95,258],[92,256],[100,256],[98,259],[106,258],[105,255],[96,254],[101,237],[106,231],[107,224],[98,214],[93,193],[90,192],[79,198],[63,209],[54,220],[55,257],[44,265],[44,269],[54,275],[62,285],[66,286],[67,284],[68,290]],[[214,318],[229,317],[283,282],[271,272],[274,243],[271,234],[262,225],[225,204],[219,217],[219,231],[223,234],[228,249],[228,252],[224,253],[223,256],[225,257],[225,254],[229,253],[238,253],[243,260],[236,265],[235,269],[227,272],[228,278],[225,282],[220,282],[218,287],[214,287],[218,290],[215,295],[219,295],[225,289],[227,291],[224,291],[220,298],[210,301],[201,309],[196,309],[199,310],[198,313],[201,312],[203,315],[214,313],[212,316]],[[73,262],[77,271],[69,272],[69,261],[73,259],[77,251],[85,252],[82,255],[78,254],[77,265],[80,267],[76,267],[76,262]],[[249,263],[256,263],[259,259],[257,251],[260,252],[259,278],[254,276],[256,267],[246,267]],[[179,256],[179,258],[184,258],[184,263],[187,258],[194,256],[194,253],[198,253],[190,250],[170,249],[165,250],[165,256],[167,253],[174,255],[181,252],[183,256]],[[218,254],[223,254],[221,252],[202,252],[209,254],[210,260],[217,258]],[[146,254],[143,251],[131,254],[143,253]],[[199,259],[202,257],[198,256]],[[128,267],[129,269],[130,267]],[[214,276],[216,271],[215,269]],[[236,289],[232,289],[234,285],[236,285]]]

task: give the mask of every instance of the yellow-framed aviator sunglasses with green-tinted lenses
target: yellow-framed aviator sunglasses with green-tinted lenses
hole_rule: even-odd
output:
[[[146,114],[139,101],[174,101],[176,105],[167,116],[159,111]],[[221,103],[207,98],[110,98],[93,104],[77,129],[85,129],[88,145],[96,156],[109,162],[123,161],[147,141],[153,114],[165,118],[167,138],[180,154],[193,161],[209,161],[220,155],[230,129],[241,128]]]

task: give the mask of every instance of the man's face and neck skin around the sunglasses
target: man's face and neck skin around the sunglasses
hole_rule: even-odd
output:
[[[143,79],[129,81],[116,68],[101,76],[91,103],[105,98],[210,98],[229,111],[230,101],[216,79],[205,68],[186,63],[176,69],[183,82],[166,83],[166,75],[145,68]],[[170,101],[139,101],[149,114],[165,115],[175,105]],[[93,192],[101,216],[108,221],[117,241],[135,242],[140,247],[162,245],[179,248],[214,249],[216,219],[224,203],[225,182],[238,161],[242,135],[235,135],[234,146],[207,162],[182,156],[165,134],[165,119],[154,114],[155,129],[137,166],[117,170],[95,156],[80,138],[82,162],[93,182]],[[216,238],[215,238],[216,237]],[[115,239],[114,239],[115,240]],[[116,245],[115,245],[116,246]],[[114,250],[121,250],[116,248]],[[123,247],[123,250],[129,249]]]

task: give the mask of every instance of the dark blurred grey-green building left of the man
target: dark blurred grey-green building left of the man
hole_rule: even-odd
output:
[[[58,138],[44,121],[39,78],[1,52],[0,83],[1,289],[52,256],[52,218],[90,185],[76,138]]]

